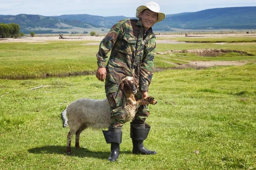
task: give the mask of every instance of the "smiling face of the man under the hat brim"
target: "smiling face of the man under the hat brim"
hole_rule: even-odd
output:
[[[140,17],[145,31],[154,26],[157,22],[157,13],[150,10],[146,10],[143,13],[141,12]]]

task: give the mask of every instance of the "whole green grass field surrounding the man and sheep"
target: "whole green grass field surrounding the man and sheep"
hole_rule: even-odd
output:
[[[73,138],[73,154],[66,154],[69,130],[62,127],[61,112],[81,97],[105,98],[104,82],[86,75],[96,70],[98,46],[82,43],[0,44],[0,169],[256,169],[255,44],[158,44],[157,52],[223,48],[254,56],[157,54],[158,68],[175,67],[169,61],[176,59],[248,63],[154,73],[149,95],[158,103],[149,106],[151,131],[144,145],[157,155],[131,153],[127,123],[119,159],[109,162],[102,130],[84,130],[84,148],[76,150]],[[47,86],[29,90],[41,85]]]

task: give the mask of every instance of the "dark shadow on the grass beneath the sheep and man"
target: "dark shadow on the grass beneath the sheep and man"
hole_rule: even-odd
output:
[[[29,149],[29,153],[35,153],[35,154],[62,154],[67,156],[77,156],[80,158],[84,157],[93,157],[98,159],[108,159],[110,156],[111,150],[109,152],[102,152],[102,151],[91,151],[87,148],[81,147],[80,149],[76,149],[76,147],[71,147],[72,154],[67,154],[67,147],[66,146],[43,146],[43,147],[35,147]],[[109,148],[110,149],[110,148]],[[120,151],[120,154],[131,154],[131,151]]]

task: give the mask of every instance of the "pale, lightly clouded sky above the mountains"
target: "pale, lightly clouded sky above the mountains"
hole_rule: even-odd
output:
[[[59,16],[90,14],[102,17],[135,17],[136,8],[151,0],[0,0],[0,15]],[[178,14],[212,8],[256,6],[256,0],[154,0],[160,12]]]

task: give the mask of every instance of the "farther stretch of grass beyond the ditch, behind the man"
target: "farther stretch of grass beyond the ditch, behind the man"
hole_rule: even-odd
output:
[[[232,37],[230,37],[232,38]],[[182,39],[182,38],[180,38]],[[229,40],[229,39],[227,39]],[[27,79],[38,77],[59,77],[67,75],[92,74],[96,71],[96,54],[98,45],[83,45],[92,41],[80,42],[54,42],[48,43],[1,43],[0,62],[1,79]],[[212,44],[212,43],[192,43],[192,44],[157,44],[157,50],[187,50],[201,48],[218,48],[245,51],[256,55],[256,44]],[[155,67],[172,68],[173,63],[184,63],[175,59],[202,60],[202,61],[237,61],[247,60],[255,62],[252,56],[237,54],[226,54],[218,57],[198,57],[195,54],[179,54],[185,57],[158,55],[155,56]],[[11,61],[11,62],[10,62]]]

